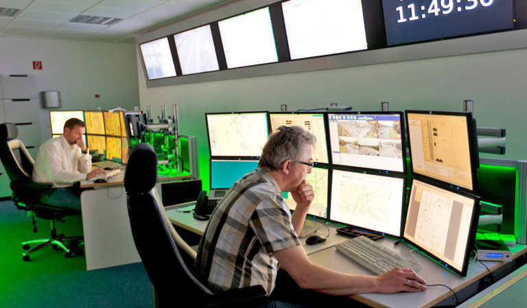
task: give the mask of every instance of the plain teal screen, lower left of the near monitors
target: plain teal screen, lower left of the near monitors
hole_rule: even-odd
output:
[[[211,159],[211,189],[229,189],[255,169],[258,169],[258,161]]]

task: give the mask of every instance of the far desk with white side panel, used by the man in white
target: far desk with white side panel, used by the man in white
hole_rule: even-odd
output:
[[[187,178],[190,178],[187,174],[160,175],[158,181]],[[82,188],[94,188],[83,191],[80,195],[86,270],[141,262],[130,229],[123,184],[124,171],[108,179],[106,183],[94,183],[90,180],[80,182]]]

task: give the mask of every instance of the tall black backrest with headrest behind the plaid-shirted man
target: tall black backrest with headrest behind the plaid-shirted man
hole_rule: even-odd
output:
[[[134,243],[141,256],[160,303],[177,301],[176,294],[206,296],[211,294],[183,259],[183,251],[174,235],[176,230],[165,219],[162,204],[152,195],[157,180],[157,155],[152,146],[138,143],[130,151],[124,174],[128,195],[128,216]]]

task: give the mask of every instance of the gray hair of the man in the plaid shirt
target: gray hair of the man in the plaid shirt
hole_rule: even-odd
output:
[[[280,126],[278,132],[269,137],[258,167],[268,167],[277,171],[284,161],[298,161],[301,156],[302,147],[314,146],[316,137],[300,126]]]

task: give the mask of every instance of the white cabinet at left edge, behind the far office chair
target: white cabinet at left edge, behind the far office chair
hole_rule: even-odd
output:
[[[40,106],[36,78],[32,75],[0,75],[0,123],[16,124],[19,137],[33,159],[40,146]],[[10,197],[9,178],[0,168],[0,198]]]

